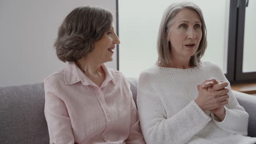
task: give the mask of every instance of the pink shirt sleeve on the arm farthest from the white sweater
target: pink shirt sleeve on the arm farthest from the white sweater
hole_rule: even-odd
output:
[[[48,124],[50,144],[74,144],[67,107],[55,91],[54,83],[44,82],[44,114]]]

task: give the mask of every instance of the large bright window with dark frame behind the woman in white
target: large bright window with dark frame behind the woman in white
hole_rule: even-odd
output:
[[[156,41],[162,14],[168,5],[176,2],[181,1],[117,1],[121,41],[118,63],[119,70],[127,77],[138,77],[142,70],[155,64],[158,58]],[[256,71],[253,65],[256,63],[253,57],[256,51],[254,50],[254,54],[252,52],[252,39],[256,40],[253,37],[256,32],[253,27],[253,23],[256,22],[253,15],[256,2],[250,1],[247,8],[246,0],[190,0],[190,2],[201,8],[206,22],[208,46],[202,59],[217,63],[230,82],[248,80],[246,79],[248,73],[251,76],[250,80],[256,79],[256,73],[252,72]],[[245,10],[247,10],[246,16]],[[249,30],[245,29],[246,40],[243,45],[242,29],[245,26]],[[243,49],[245,52],[241,53]],[[239,64],[243,67],[240,68]]]

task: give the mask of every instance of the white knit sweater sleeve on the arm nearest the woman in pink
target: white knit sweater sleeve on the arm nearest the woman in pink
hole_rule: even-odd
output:
[[[161,93],[150,74],[139,76],[137,105],[141,128],[146,143],[186,143],[199,133],[211,117],[191,101],[181,111],[167,118]],[[160,83],[159,83],[160,85]]]

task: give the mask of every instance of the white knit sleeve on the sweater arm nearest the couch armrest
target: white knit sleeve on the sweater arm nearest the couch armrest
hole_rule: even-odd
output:
[[[219,75],[216,76],[218,77],[218,81],[227,80],[219,67],[217,67],[216,70],[216,73]],[[245,109],[240,104],[238,104],[234,94],[231,91],[232,89],[230,85],[228,86],[228,89],[229,103],[228,105],[224,106],[226,111],[224,120],[220,122],[218,118],[213,114],[211,114],[211,117],[214,123],[216,123],[217,127],[220,129],[228,133],[241,134],[246,136],[249,115]]]

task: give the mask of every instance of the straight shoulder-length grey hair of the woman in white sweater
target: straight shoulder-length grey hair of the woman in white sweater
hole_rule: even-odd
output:
[[[171,65],[171,42],[168,41],[167,37],[170,34],[170,27],[174,22],[174,17],[179,13],[182,9],[191,9],[199,14],[201,23],[202,23],[202,39],[200,41],[199,47],[195,54],[190,58],[190,66],[196,67],[200,65],[200,59],[205,53],[207,47],[206,40],[206,26],[205,20],[203,19],[201,9],[195,5],[194,3],[184,2],[170,5],[164,12],[162,16],[162,20],[159,27],[158,33],[158,64],[161,67],[166,67],[167,65]]]

